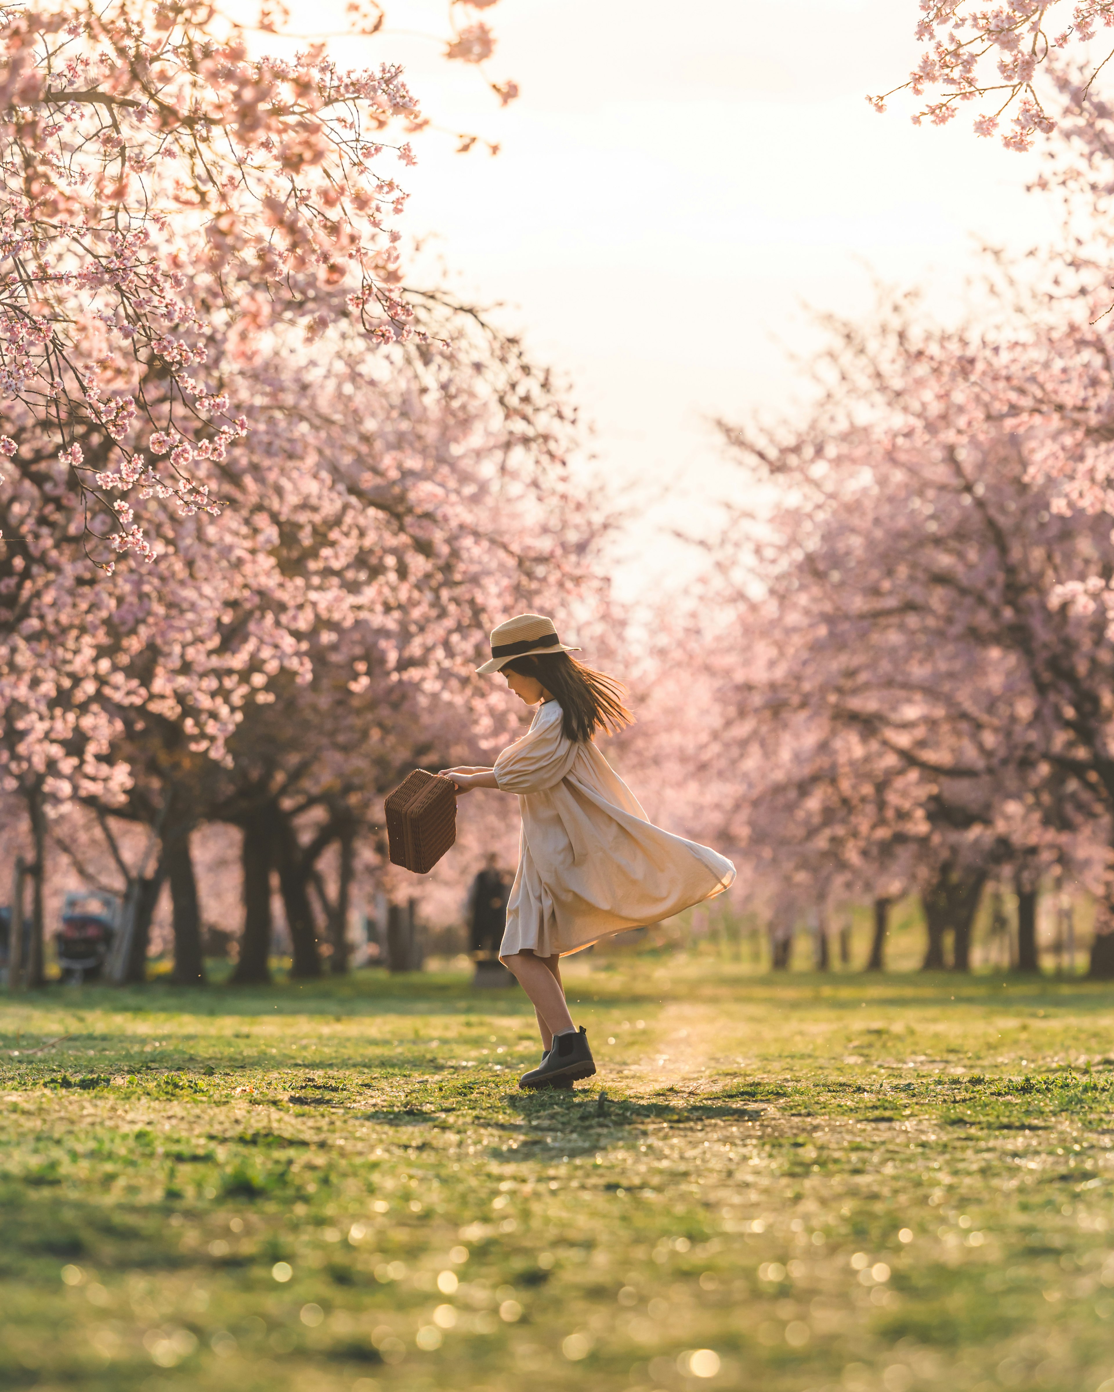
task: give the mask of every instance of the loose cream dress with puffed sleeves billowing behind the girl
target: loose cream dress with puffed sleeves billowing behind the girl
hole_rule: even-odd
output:
[[[579,952],[723,894],[735,878],[717,852],[648,821],[599,749],[565,739],[556,700],[503,750],[494,775],[522,809],[501,958]]]

